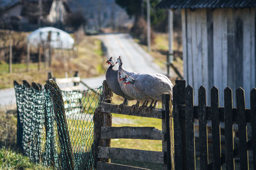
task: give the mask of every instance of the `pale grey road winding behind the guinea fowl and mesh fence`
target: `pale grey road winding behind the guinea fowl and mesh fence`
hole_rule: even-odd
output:
[[[95,36],[103,41],[104,45],[108,49],[108,57],[118,56],[122,57],[123,67],[127,70],[137,73],[165,73],[153,62],[153,58],[143,50],[137,43],[135,43],[129,34],[100,34]],[[118,68],[116,64],[116,69]],[[170,73],[172,76],[174,73]],[[91,88],[97,88],[102,85],[102,81],[105,76],[99,76],[95,78],[83,78],[82,81]],[[81,85],[82,89],[86,89],[84,85]],[[0,90],[0,108],[2,106],[15,104],[15,92],[14,89]]]

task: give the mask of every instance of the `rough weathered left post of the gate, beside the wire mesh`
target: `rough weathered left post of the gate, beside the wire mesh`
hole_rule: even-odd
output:
[[[103,92],[101,102],[111,103],[113,97],[113,92],[109,89],[106,80],[103,81]],[[98,161],[110,162],[110,159],[98,159],[98,146],[108,146],[110,147],[110,139],[101,139],[100,133],[101,127],[111,127],[112,125],[112,115],[111,113],[103,113],[100,111],[100,108],[96,108],[93,115],[94,122],[94,167],[97,167]]]

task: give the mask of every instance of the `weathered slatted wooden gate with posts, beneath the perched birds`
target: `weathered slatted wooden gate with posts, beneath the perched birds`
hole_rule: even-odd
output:
[[[111,104],[112,92],[104,81],[102,102],[95,111],[93,122],[95,124],[94,147],[97,169],[143,169],[140,167],[113,164],[110,159],[134,160],[139,162],[153,162],[164,164],[164,169],[172,168],[172,121],[170,121],[170,94],[163,94],[162,109],[153,109],[148,113],[145,110],[131,111],[131,106],[124,106],[122,110],[119,105]],[[137,117],[160,118],[162,120],[162,131],[154,127],[111,127],[111,113],[132,115]],[[127,148],[111,148],[110,139],[154,139],[163,141],[163,152],[134,150]]]

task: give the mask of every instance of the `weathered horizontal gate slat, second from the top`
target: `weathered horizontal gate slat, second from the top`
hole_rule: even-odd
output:
[[[154,127],[101,127],[101,138],[164,140],[164,132]]]

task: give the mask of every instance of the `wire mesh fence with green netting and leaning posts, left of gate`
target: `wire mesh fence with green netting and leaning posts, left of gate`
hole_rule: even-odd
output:
[[[93,169],[93,113],[102,87],[61,91],[54,81],[43,88],[14,83],[17,145],[33,162],[56,169]]]

